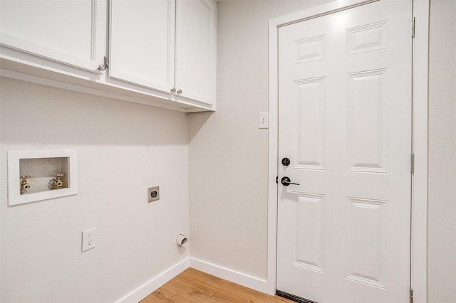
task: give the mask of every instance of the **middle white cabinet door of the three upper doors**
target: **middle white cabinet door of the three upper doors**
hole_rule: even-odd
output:
[[[110,1],[110,77],[171,93],[174,41],[174,0]]]

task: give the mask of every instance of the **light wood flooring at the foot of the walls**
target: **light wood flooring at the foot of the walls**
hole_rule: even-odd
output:
[[[227,280],[188,268],[185,272],[149,294],[140,303],[294,303],[288,299],[270,296]]]

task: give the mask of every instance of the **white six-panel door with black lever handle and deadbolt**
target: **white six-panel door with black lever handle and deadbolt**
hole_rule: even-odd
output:
[[[411,21],[380,0],[279,28],[281,292],[409,302]]]

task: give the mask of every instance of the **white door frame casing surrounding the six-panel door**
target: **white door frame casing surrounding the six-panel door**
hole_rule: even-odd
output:
[[[381,0],[343,0],[323,4],[269,21],[269,156],[268,156],[268,255],[267,293],[276,292],[277,203],[279,94],[278,94],[278,36],[279,28],[310,18]],[[427,302],[427,99],[429,58],[430,0],[413,0],[415,38],[413,38],[412,96],[415,172],[412,178],[410,285],[415,303]],[[410,20],[411,26],[411,20]]]

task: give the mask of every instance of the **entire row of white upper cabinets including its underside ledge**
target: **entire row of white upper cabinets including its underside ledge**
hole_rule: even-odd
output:
[[[0,0],[0,75],[215,110],[215,9],[214,0]]]

